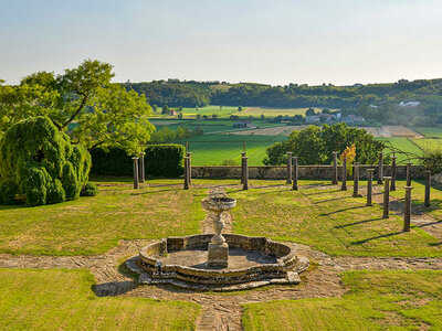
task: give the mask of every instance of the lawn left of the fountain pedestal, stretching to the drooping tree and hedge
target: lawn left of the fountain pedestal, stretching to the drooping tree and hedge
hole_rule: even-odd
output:
[[[99,182],[93,197],[36,207],[0,206],[0,252],[90,255],[107,252],[118,239],[198,233],[207,190],[183,191],[169,183],[134,190],[130,182]]]

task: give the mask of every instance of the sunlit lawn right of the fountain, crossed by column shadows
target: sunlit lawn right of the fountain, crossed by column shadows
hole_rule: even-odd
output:
[[[339,256],[442,256],[439,241],[418,227],[403,233],[393,214],[381,218],[380,205],[366,207],[336,186],[230,190],[238,199],[233,231],[311,245]]]

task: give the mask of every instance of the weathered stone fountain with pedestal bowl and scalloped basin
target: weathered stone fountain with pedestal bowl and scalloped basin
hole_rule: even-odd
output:
[[[236,205],[223,194],[209,195],[202,207],[213,220],[214,234],[167,237],[143,247],[126,261],[140,284],[228,291],[270,284],[298,284],[308,258],[290,244],[265,237],[225,234],[223,216]]]

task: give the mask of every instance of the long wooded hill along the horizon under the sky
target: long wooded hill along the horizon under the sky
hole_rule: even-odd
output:
[[[360,104],[418,100],[442,105],[442,79],[401,79],[388,84],[352,86],[288,84],[272,86],[256,83],[154,81],[125,83],[128,89],[146,95],[149,104],[169,107],[212,105],[266,107],[348,108]]]

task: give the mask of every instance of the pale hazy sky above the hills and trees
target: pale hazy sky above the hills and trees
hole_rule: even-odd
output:
[[[442,0],[0,0],[0,78],[85,58],[116,82],[442,77]]]

